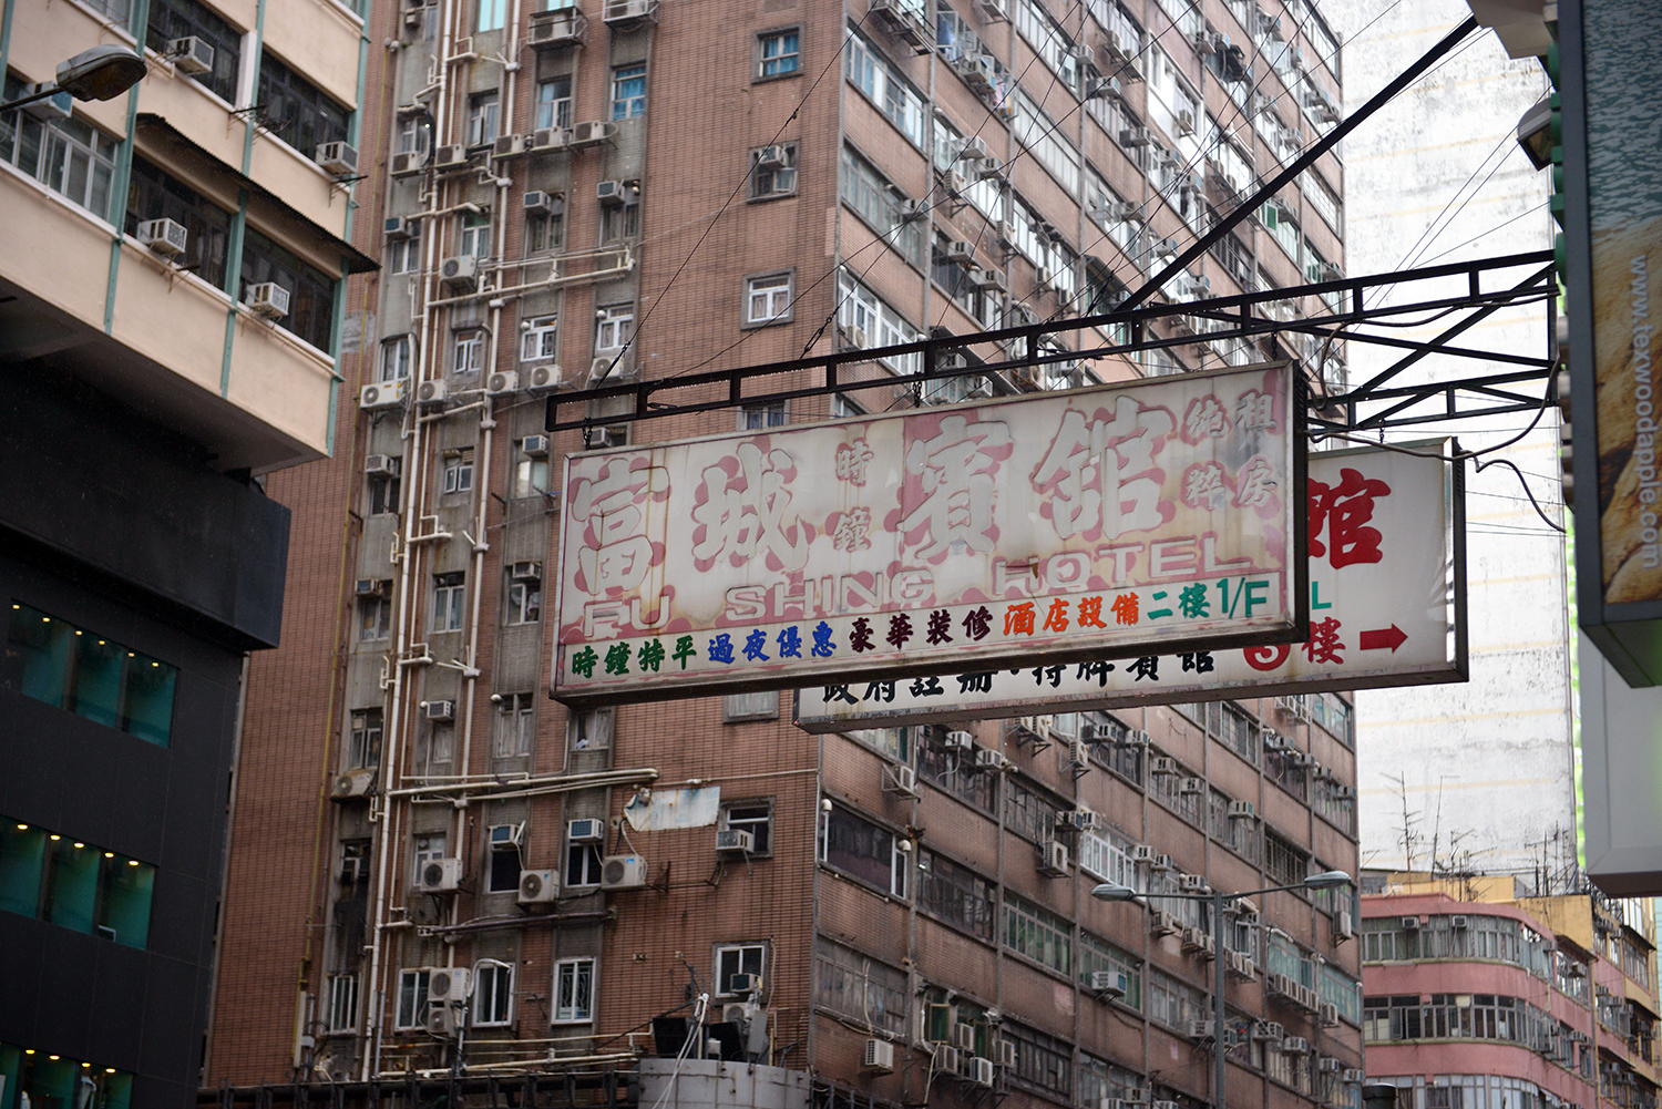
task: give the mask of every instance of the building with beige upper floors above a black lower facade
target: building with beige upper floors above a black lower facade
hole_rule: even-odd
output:
[[[0,115],[0,1106],[178,1106],[203,1059],[248,652],[332,447],[364,25],[15,0]],[[248,111],[261,103],[264,115]],[[324,165],[327,163],[327,165]]]

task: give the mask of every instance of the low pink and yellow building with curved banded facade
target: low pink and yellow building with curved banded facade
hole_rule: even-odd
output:
[[[1650,901],[1371,871],[1365,890],[1368,1081],[1403,1109],[1657,1104]]]

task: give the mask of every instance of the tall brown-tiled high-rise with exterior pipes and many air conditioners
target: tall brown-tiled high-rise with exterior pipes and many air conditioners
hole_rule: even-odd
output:
[[[334,459],[269,482],[296,574],[251,667],[204,1101],[691,1102],[720,1074],[723,1101],[1193,1109],[1225,958],[1230,1097],[1350,1102],[1348,891],[1258,898],[1225,951],[1193,901],[1090,898],[1355,873],[1346,698],[986,722],[994,773],[944,728],[808,737],[789,695],[545,693],[567,454],[1305,356],[1183,333],[547,432],[597,381],[1112,304],[1331,121],[1315,7],[440,0],[369,40],[382,269]],[[1336,273],[1341,195],[1325,158],[1167,296]]]

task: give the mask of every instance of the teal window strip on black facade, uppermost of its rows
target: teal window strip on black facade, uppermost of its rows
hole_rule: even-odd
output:
[[[12,602],[0,682],[23,697],[166,747],[178,668]]]

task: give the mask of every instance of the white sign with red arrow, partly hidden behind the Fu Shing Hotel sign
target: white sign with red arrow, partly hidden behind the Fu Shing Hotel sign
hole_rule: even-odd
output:
[[[1448,441],[1416,454],[1448,454]],[[1439,457],[1310,456],[1310,638],[803,688],[808,732],[1466,680],[1464,509]]]

